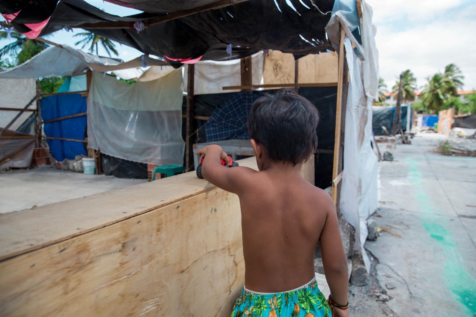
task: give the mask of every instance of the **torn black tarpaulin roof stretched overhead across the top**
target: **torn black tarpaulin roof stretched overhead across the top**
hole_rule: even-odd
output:
[[[84,23],[130,22],[129,28],[87,29],[111,40],[129,45],[147,54],[163,55],[174,59],[226,60],[242,58],[258,50],[274,49],[295,55],[307,55],[332,49],[326,40],[325,26],[334,0],[250,0],[221,9],[208,10],[179,19],[150,25],[138,32],[133,28],[135,21],[164,16],[159,12],[174,12],[209,4],[210,0],[113,0],[109,2],[146,12],[119,17],[105,13],[83,0],[62,0],[54,8],[50,0],[34,1],[41,10],[26,10],[33,4],[18,1],[22,5],[11,5],[11,1],[0,0],[0,12],[10,14],[11,24],[16,30],[28,32],[40,28],[47,19],[40,35],[65,27]],[[16,16],[13,14],[18,12]],[[32,22],[38,23],[33,25]],[[26,23],[26,24],[25,24]],[[28,24],[30,23],[30,24]],[[31,29],[33,30],[33,29]],[[231,44],[231,52],[227,47]],[[228,51],[228,52],[227,52]],[[170,64],[178,64],[168,60]]]

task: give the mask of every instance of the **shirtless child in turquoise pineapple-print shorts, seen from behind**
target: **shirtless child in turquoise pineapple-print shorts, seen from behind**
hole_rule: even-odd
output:
[[[300,174],[317,147],[318,120],[309,100],[282,89],[257,99],[248,117],[259,171],[220,165],[220,158],[229,160],[218,145],[196,153],[204,157],[203,177],[240,200],[245,286],[231,317],[330,317],[332,306],[334,316],[348,316],[347,259],[336,209],[327,192]],[[317,243],[331,308],[315,280]]]

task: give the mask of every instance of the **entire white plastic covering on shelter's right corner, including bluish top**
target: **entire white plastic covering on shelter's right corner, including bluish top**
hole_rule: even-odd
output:
[[[367,218],[377,209],[378,159],[371,144],[372,103],[378,95],[378,51],[372,8],[362,0],[362,19],[358,19],[355,0],[336,0],[333,15],[326,26],[332,45],[339,48],[339,22],[346,32],[344,41],[350,80],[344,137],[344,169],[340,193],[340,211],[356,229],[355,249],[360,252],[367,271],[370,262],[364,250]],[[351,33],[358,26],[362,45]],[[352,44],[357,48],[352,49]],[[359,59],[360,58],[360,59]]]

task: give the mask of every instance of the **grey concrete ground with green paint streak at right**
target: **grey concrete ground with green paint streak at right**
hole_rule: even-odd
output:
[[[476,158],[436,153],[444,139],[419,134],[379,163],[380,208],[371,218],[384,231],[365,248],[391,312],[377,316],[476,317]],[[350,289],[372,295],[370,287]],[[359,295],[356,306],[375,300]]]

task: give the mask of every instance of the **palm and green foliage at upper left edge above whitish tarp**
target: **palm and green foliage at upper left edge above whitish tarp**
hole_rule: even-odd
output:
[[[11,32],[11,39],[14,39],[13,42],[5,45],[0,49],[0,58],[5,55],[17,55],[17,65],[20,65],[32,58],[36,54],[40,53],[42,50],[46,49],[49,45],[37,40],[31,40],[26,36],[17,33]],[[7,32],[0,32],[0,39],[7,39]]]

